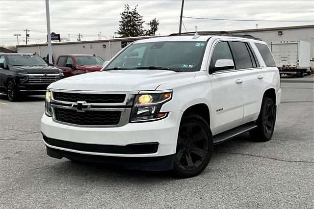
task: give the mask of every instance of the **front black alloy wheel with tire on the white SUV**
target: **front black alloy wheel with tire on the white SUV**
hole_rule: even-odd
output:
[[[212,135],[207,122],[196,114],[183,116],[174,171],[182,177],[198,175],[207,167],[212,147]]]

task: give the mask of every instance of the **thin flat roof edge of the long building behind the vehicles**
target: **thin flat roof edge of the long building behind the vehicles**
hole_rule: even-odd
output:
[[[262,31],[274,31],[274,30],[287,30],[287,29],[303,29],[303,28],[314,28],[314,25],[305,25],[305,26],[285,26],[285,27],[268,27],[268,28],[257,28],[257,29],[245,29],[245,30],[230,30],[229,33],[247,33],[247,32],[262,32]],[[114,38],[114,39],[102,39],[102,40],[93,40],[93,41],[73,41],[73,42],[56,42],[52,45],[63,45],[63,44],[89,44],[89,43],[103,43],[108,41],[136,41],[147,38],[156,38],[164,36],[140,36],[140,37],[128,37],[128,38]],[[45,44],[28,44],[28,45],[18,45],[16,47],[37,47],[37,46],[47,46]]]

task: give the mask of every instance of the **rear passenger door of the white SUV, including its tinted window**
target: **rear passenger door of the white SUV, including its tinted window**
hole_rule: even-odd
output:
[[[231,49],[235,57],[235,69],[240,70],[244,97],[243,121],[245,124],[257,119],[262,103],[264,74],[258,58],[249,42],[232,41]]]

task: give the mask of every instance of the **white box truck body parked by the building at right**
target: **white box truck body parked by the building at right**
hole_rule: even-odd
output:
[[[270,49],[274,56],[280,77],[283,74],[304,77],[311,75],[311,44],[306,41],[272,41]]]

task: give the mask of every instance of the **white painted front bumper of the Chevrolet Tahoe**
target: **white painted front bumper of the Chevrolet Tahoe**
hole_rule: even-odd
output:
[[[169,156],[175,153],[180,119],[182,111],[172,111],[168,117],[159,121],[145,123],[129,123],[122,127],[111,128],[87,128],[75,127],[56,123],[51,117],[45,114],[41,120],[41,131],[44,136],[56,140],[63,140],[67,146],[49,144],[44,140],[48,148],[69,153],[76,153],[82,156],[111,156],[111,157],[161,157]],[[88,144],[88,146],[112,145],[128,146],[131,144],[158,143],[157,152],[145,154],[126,154],[119,152],[110,152],[105,148],[102,152],[92,152],[78,148],[76,144]],[[70,145],[69,145],[70,144]]]

